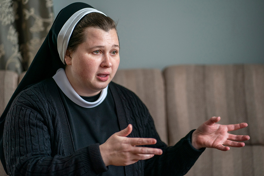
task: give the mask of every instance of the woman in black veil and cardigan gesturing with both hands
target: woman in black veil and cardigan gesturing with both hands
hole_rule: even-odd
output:
[[[249,136],[227,131],[246,123],[212,117],[167,147],[139,98],[111,82],[119,49],[102,12],[84,3],[60,11],[1,116],[10,175],[183,175],[205,147],[244,146],[230,140]]]

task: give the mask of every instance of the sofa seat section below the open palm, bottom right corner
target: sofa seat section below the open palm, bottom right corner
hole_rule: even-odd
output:
[[[264,146],[220,151],[206,149],[186,176],[254,176],[264,173]]]

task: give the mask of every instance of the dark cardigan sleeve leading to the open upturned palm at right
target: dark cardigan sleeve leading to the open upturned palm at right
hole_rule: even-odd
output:
[[[158,135],[148,134],[147,136],[157,139],[155,146],[148,147],[161,148],[163,154],[155,155],[145,161],[145,175],[185,175],[205,150],[205,148],[197,150],[191,145],[193,131],[190,131],[177,144],[169,147],[159,139]]]

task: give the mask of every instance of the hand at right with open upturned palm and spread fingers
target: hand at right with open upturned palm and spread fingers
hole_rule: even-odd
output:
[[[232,125],[220,125],[220,117],[212,117],[199,126],[192,134],[192,146],[196,149],[216,148],[227,151],[230,147],[243,147],[244,142],[249,140],[247,135],[229,134],[228,131],[234,131],[247,127],[247,123],[238,123]]]

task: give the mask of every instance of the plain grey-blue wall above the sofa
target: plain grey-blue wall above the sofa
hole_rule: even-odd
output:
[[[55,16],[76,0],[53,0]],[[80,1],[118,21],[119,68],[264,63],[263,0]]]

